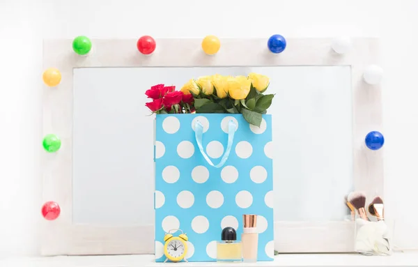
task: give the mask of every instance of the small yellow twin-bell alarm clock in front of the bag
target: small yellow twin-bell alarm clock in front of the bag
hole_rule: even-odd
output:
[[[178,236],[173,236],[171,231],[173,231],[173,233],[176,233],[176,231],[181,231],[181,234]],[[187,262],[185,256],[187,254],[188,240],[189,238],[186,236],[186,234],[183,233],[181,229],[171,229],[167,234],[165,234],[164,255],[167,257],[167,259],[164,262],[168,260],[178,262],[182,259]]]

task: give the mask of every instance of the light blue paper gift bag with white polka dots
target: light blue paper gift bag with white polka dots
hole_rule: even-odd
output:
[[[171,229],[187,234],[187,261],[216,261],[222,229],[240,241],[244,214],[258,215],[257,260],[272,261],[272,149],[271,115],[258,128],[242,114],[157,114],[155,261]]]

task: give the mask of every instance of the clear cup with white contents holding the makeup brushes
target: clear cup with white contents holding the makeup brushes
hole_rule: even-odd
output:
[[[388,220],[371,222],[356,216],[355,251],[367,256],[392,254],[394,223]]]

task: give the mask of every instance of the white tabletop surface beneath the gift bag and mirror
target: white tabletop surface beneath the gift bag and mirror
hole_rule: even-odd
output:
[[[153,255],[57,256],[0,259],[1,267],[142,267],[167,266],[153,262]],[[418,252],[396,252],[392,256],[360,254],[279,254],[274,261],[256,264],[217,262],[178,263],[176,266],[418,266]]]

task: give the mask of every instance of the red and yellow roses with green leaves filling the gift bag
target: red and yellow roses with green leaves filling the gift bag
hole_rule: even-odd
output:
[[[270,84],[265,75],[212,75],[190,79],[180,91],[175,86],[157,84],[146,91],[151,112],[167,113],[241,113],[252,125],[260,126],[262,114],[272,104],[273,94],[263,94]]]

